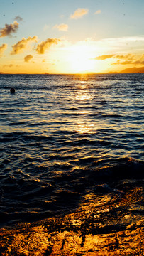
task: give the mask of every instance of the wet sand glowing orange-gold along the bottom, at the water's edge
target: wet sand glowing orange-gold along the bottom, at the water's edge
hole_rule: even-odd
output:
[[[117,201],[0,230],[1,256],[144,255],[143,187]]]

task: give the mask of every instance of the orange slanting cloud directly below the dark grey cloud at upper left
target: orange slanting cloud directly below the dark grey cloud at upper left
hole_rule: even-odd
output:
[[[22,38],[21,41],[18,41],[15,45],[12,46],[13,50],[11,51],[11,55],[15,55],[18,53],[22,53],[25,50],[29,43],[37,42],[37,36],[29,36],[27,39]]]

